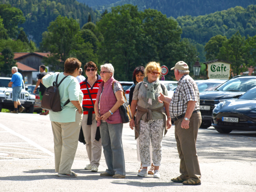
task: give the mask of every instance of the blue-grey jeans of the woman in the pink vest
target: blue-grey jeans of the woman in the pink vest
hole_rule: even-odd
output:
[[[124,154],[122,145],[123,124],[101,122],[101,144],[110,175],[125,175]]]

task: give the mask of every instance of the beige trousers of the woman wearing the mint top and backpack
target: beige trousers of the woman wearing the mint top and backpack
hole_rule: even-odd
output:
[[[81,129],[82,115],[76,111],[75,122],[59,123],[52,121],[55,172],[71,174],[71,166],[74,162]]]

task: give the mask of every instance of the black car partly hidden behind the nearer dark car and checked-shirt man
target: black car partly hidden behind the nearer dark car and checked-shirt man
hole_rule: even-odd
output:
[[[212,111],[216,104],[229,99],[239,98],[256,86],[256,76],[236,76],[214,91],[200,93],[201,128],[208,128],[212,123]]]

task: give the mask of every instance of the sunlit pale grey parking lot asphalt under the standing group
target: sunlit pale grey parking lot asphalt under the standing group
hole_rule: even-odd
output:
[[[49,116],[0,113],[0,188],[17,192],[256,192],[256,132],[216,132],[199,129],[197,153],[202,185],[185,186],[170,182],[179,175],[179,157],[174,126],[162,141],[161,179],[137,177],[134,132],[123,128],[125,179],[100,177],[106,169],[102,152],[99,172],[84,170],[89,164],[85,146],[79,143],[72,170],[77,178],[59,178],[54,172],[54,144]],[[102,150],[103,151],[103,150]]]

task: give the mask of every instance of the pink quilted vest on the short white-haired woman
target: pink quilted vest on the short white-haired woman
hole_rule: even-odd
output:
[[[104,81],[101,82],[99,85],[99,90],[97,93],[96,103],[99,103],[99,98],[101,95],[102,87],[104,86],[104,90],[101,95],[101,103],[100,103],[100,109],[101,109],[101,115],[107,113],[116,103],[117,99],[115,97],[114,91],[112,89],[112,83],[114,81],[114,77],[111,77],[108,79],[106,83]],[[99,113],[99,107],[97,105],[97,111]],[[122,123],[121,115],[119,112],[119,109],[117,109],[113,115],[110,115],[108,119],[106,120],[109,124],[117,124]],[[97,121],[97,126],[101,125],[101,121]]]

